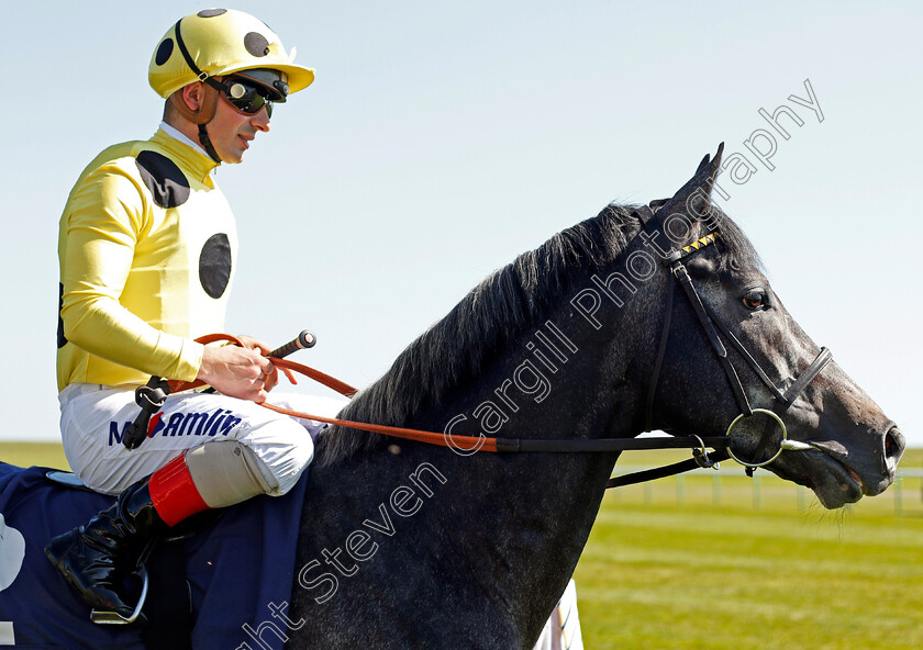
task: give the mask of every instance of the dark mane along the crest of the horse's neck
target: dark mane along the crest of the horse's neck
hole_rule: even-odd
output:
[[[659,208],[655,202],[653,206]],[[474,377],[508,341],[542,322],[577,282],[611,264],[640,228],[636,205],[610,204],[592,218],[554,235],[475,287],[442,321],[414,340],[391,369],[362,391],[341,418],[407,426],[414,413],[441,405],[454,386]],[[723,212],[722,267],[760,267],[749,240]],[[690,242],[705,234],[699,224]],[[319,439],[319,459],[333,464],[380,436],[330,427]]]

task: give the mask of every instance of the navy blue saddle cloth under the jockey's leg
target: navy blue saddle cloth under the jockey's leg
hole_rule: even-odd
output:
[[[47,471],[0,462],[0,648],[145,649],[135,626],[90,623],[89,606],[44,553],[52,537],[86,523],[113,497],[54,484]],[[184,542],[193,649],[282,649],[283,635],[267,621],[291,602],[305,477],[283,497],[227,508],[215,526]],[[153,591],[148,601],[177,597],[188,601]]]

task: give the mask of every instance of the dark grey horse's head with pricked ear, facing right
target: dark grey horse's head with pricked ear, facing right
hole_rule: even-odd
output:
[[[727,429],[748,405],[771,410],[787,428],[789,449],[766,469],[811,488],[829,508],[879,494],[894,479],[903,436],[839,367],[823,365],[826,357],[782,305],[749,242],[712,203],[720,161],[721,148],[671,199],[650,206],[655,214],[648,232],[659,232],[660,243],[679,251],[718,234],[713,245],[705,242],[678,262],[688,270],[692,293],[681,288],[682,272],[671,271],[677,287],[668,291],[675,291],[676,304],[655,307],[650,315],[652,327],[659,321],[672,330],[652,404],[653,424],[677,434],[713,435]],[[698,314],[694,295],[703,307]],[[709,320],[715,328],[711,333]],[[721,360],[722,350],[733,370]],[[736,386],[743,396],[735,394]],[[758,464],[780,449],[782,427],[758,412],[737,421],[730,435],[735,458]]]

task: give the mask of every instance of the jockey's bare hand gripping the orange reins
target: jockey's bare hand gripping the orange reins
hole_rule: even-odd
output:
[[[262,344],[255,339],[241,339],[241,343],[247,347],[205,346],[196,379],[224,395],[262,404],[279,381],[279,373],[273,362],[260,354]],[[266,351],[270,350],[267,348]]]

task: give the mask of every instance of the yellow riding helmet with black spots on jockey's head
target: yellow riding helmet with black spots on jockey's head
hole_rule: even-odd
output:
[[[233,9],[205,9],[170,27],[154,51],[147,79],[163,98],[210,77],[262,68],[282,72],[282,98],[314,80],[314,70],[294,61],[273,30]],[[212,83],[214,83],[212,81]],[[287,88],[285,86],[287,85]]]

